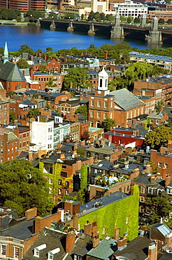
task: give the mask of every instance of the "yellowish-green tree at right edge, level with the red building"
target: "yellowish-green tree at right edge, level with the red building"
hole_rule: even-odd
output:
[[[157,127],[145,136],[145,144],[156,150],[166,146],[169,140],[172,140],[172,129],[168,126]]]

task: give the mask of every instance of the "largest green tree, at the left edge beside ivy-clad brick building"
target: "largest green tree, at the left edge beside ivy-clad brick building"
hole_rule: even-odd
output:
[[[25,210],[38,208],[38,214],[47,213],[49,207],[48,182],[43,173],[27,160],[12,160],[1,164],[0,195],[4,207],[17,209],[19,216]]]

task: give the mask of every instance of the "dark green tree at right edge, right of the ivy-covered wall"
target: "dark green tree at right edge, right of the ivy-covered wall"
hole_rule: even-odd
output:
[[[172,211],[172,205],[169,203],[169,197],[160,194],[157,197],[148,198],[146,202],[147,206],[152,209],[152,223],[159,222],[160,218],[169,218],[169,214]]]

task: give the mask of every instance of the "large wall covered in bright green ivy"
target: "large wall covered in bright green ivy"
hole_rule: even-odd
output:
[[[134,186],[133,189],[134,195],[80,216],[80,228],[84,228],[87,221],[97,221],[99,238],[105,238],[106,234],[113,237],[115,228],[119,228],[120,235],[127,232],[127,240],[136,238],[138,236],[139,190],[138,186]]]

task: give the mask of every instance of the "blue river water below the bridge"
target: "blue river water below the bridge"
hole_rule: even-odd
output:
[[[117,44],[123,41],[128,42],[131,47],[161,47],[158,45],[148,46],[145,42],[134,39],[109,39],[105,35],[88,36],[84,32],[50,31],[36,26],[0,25],[0,47],[4,46],[5,41],[8,43],[8,51],[17,51],[22,44],[28,44],[34,51],[41,48],[43,52],[47,47],[52,47],[55,52],[62,48],[86,49],[90,44],[94,44],[99,48],[103,44]],[[166,48],[168,46],[162,45],[162,47]]]

